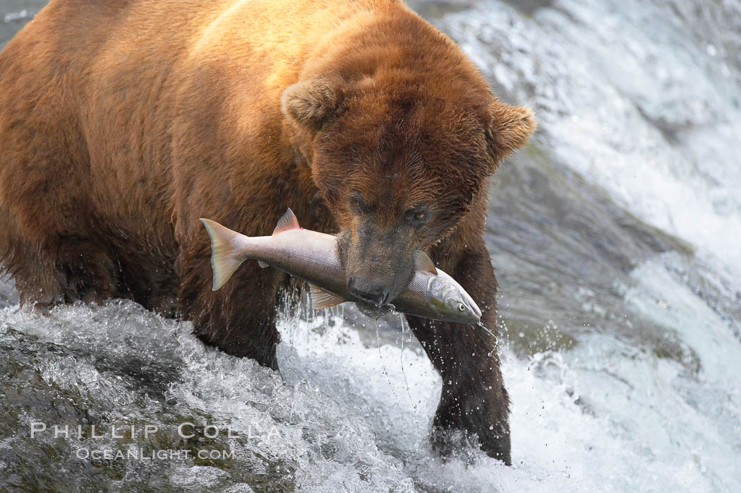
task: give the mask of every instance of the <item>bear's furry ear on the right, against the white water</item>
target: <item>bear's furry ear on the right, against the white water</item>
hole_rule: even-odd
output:
[[[499,165],[502,159],[528,143],[538,124],[528,107],[510,106],[496,100],[491,109],[492,119],[486,140],[495,165]]]

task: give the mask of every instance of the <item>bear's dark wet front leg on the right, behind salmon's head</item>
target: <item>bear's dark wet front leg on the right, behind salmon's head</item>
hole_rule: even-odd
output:
[[[432,257],[471,294],[488,329],[407,317],[442,377],[431,434],[433,447],[446,456],[461,441],[468,442],[475,435],[483,451],[510,465],[509,398],[499,370],[496,278],[488,251],[481,241],[479,247],[471,250],[469,245],[457,258],[439,251],[433,251]]]

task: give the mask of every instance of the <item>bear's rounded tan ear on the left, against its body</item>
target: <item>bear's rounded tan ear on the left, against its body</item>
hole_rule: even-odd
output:
[[[281,109],[290,122],[316,132],[337,116],[343,99],[339,79],[316,77],[286,87]]]

